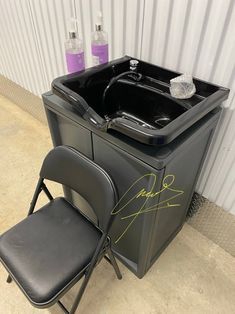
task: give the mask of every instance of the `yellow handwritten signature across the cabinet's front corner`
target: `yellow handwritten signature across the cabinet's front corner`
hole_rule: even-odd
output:
[[[135,191],[137,186],[141,184],[141,181],[146,181],[146,178],[148,179],[148,187],[150,188],[149,191],[146,190],[145,187],[143,187],[140,191],[134,192],[134,196],[132,196],[130,199],[128,199],[128,196],[131,193],[131,191]],[[142,214],[150,213],[153,211],[156,211],[158,209],[163,208],[170,208],[170,207],[179,207],[180,204],[178,203],[172,203],[173,200],[175,200],[177,197],[179,197],[181,194],[184,193],[182,190],[178,190],[174,188],[172,185],[175,181],[175,176],[173,174],[166,175],[162,180],[162,188],[159,191],[154,192],[154,188],[157,182],[157,176],[154,173],[148,173],[137,179],[130,187],[129,189],[123,194],[123,196],[120,198],[118,203],[115,205],[114,209],[112,210],[112,215],[117,215],[119,213],[123,213],[123,210],[127,208],[127,206],[130,206],[131,203],[133,203],[136,199],[143,200],[143,204],[140,206],[139,209],[136,210],[136,212],[131,213],[129,215],[124,215],[121,217],[121,220],[129,219],[129,224],[124,228],[123,232],[117,237],[117,239],[114,241],[114,243],[118,243],[124,235],[127,233],[129,228],[133,225],[135,220]],[[167,197],[164,200],[161,200],[160,194],[164,191],[170,191],[172,194],[171,196]],[[169,193],[168,193],[169,194]],[[124,201],[127,198],[127,201]],[[149,205],[149,200],[154,201],[156,200],[156,203]],[[122,205],[124,203],[124,205]],[[139,204],[139,203],[138,203]],[[138,205],[139,206],[139,205]]]

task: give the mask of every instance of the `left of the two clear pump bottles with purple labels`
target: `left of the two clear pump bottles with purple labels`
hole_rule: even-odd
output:
[[[65,42],[67,70],[69,73],[85,69],[83,42],[77,32],[77,20],[69,22],[69,39]]]

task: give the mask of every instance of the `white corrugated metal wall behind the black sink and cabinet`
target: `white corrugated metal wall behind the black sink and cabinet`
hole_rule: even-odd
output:
[[[197,190],[235,214],[234,0],[0,0],[0,73],[35,95],[65,73],[70,16],[80,21],[86,64],[98,10],[110,59],[125,54],[231,89]]]

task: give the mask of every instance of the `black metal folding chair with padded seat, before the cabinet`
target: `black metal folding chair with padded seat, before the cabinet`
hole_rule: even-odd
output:
[[[93,208],[99,226],[65,198],[53,198],[44,179],[78,192]],[[49,202],[34,211],[44,191]],[[117,202],[109,175],[75,149],[58,146],[51,150],[40,171],[28,217],[0,237],[0,259],[9,276],[38,308],[58,303],[65,313],[75,313],[96,264],[104,257],[121,279],[111,251],[108,232]],[[61,297],[79,280],[83,282],[71,310]]]

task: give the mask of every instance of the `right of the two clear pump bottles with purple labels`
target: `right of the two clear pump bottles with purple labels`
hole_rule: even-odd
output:
[[[108,34],[103,30],[103,16],[97,14],[95,31],[91,35],[91,53],[93,65],[99,65],[109,61]]]

